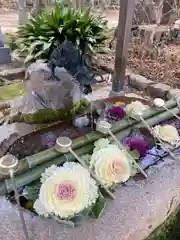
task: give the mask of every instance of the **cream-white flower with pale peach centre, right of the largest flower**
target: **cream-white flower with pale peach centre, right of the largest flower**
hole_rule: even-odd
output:
[[[112,144],[94,152],[90,166],[94,169],[97,179],[107,187],[126,182],[131,175],[131,167],[125,151]]]

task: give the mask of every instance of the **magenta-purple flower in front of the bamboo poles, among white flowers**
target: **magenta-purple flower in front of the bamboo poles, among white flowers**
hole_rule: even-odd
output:
[[[131,150],[137,150],[140,154],[140,157],[145,156],[146,152],[149,150],[147,141],[143,137],[133,137],[127,142],[128,147]]]

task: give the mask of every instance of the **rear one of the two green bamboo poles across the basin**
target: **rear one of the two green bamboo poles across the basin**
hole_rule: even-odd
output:
[[[166,102],[166,107],[171,109],[172,107],[176,106],[176,102],[174,100],[169,100],[168,102]],[[144,112],[144,119],[147,119],[149,117],[152,117],[156,114],[159,114],[161,112],[165,112],[166,110],[164,108],[162,109],[157,109],[157,108],[151,108],[148,109]],[[138,120],[121,120],[118,122],[115,122],[114,124],[112,124],[112,132],[113,133],[117,133],[119,131],[122,131],[128,127],[132,127],[135,124],[137,124],[139,121]],[[73,145],[72,148],[73,149],[78,149],[83,145],[88,145],[96,140],[98,140],[99,138],[103,137],[103,135],[99,132],[91,132],[88,133],[82,137],[76,138],[75,140],[73,140]],[[28,156],[24,159],[20,160],[20,164],[19,164],[19,168],[16,172],[16,175],[27,171],[30,168],[34,168],[37,165],[41,165],[45,162],[48,162],[51,159],[60,157],[62,155],[62,153],[57,152],[56,150],[54,150],[54,148],[39,152],[37,154],[34,154],[32,156]],[[29,164],[30,163],[30,164]],[[30,167],[29,167],[30,165]],[[6,178],[6,176],[0,174],[0,180]]]

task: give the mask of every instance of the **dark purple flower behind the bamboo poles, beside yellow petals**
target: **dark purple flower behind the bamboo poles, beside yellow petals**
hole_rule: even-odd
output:
[[[123,108],[119,106],[113,106],[107,110],[107,119],[109,121],[119,121],[126,115],[126,112]]]

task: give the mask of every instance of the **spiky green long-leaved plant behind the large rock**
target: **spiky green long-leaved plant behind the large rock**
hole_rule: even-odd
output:
[[[31,16],[27,24],[20,26],[18,49],[25,62],[48,59],[58,43],[65,39],[80,47],[83,53],[93,52],[106,40],[107,21],[90,9],[77,9],[57,5],[50,12]]]

